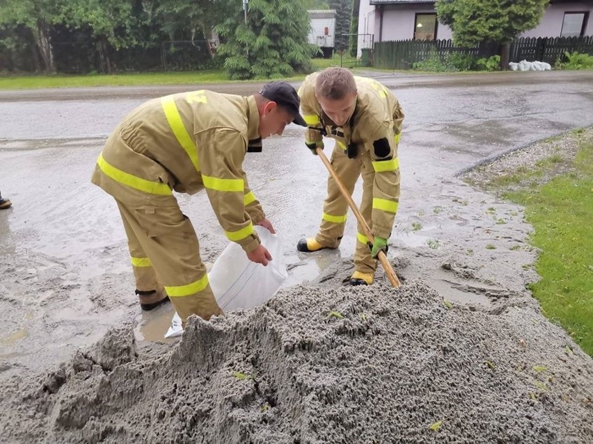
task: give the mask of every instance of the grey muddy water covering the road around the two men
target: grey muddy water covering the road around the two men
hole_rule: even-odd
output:
[[[593,108],[593,74],[537,74],[525,81],[468,76],[465,85],[462,76],[381,76],[406,112],[402,199],[390,239],[390,258],[400,264],[402,279],[423,279],[445,299],[475,307],[512,297],[536,279],[522,266],[534,252],[524,243],[530,227],[521,208],[454,176],[509,149],[593,124],[586,112]],[[0,94],[0,190],[14,204],[0,212],[2,376],[67,359],[113,325],[134,325],[145,340],[166,331],[171,306],[139,310],[116,206],[88,181],[104,137],[120,117],[149,97],[172,92],[129,90],[106,89],[104,97],[101,89],[62,90],[55,97]],[[292,126],[283,138],[267,140],[262,154],[250,154],[245,165],[283,237],[290,272],[285,286],[318,279],[331,264],[351,257],[356,241],[351,216],[339,249],[296,252],[299,238],[317,230],[327,176],[302,137]],[[212,265],[226,239],[207,198],[178,200]]]

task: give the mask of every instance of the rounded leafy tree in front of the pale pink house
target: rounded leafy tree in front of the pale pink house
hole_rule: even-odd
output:
[[[436,0],[435,8],[438,21],[452,28],[455,44],[500,44],[500,66],[507,69],[510,42],[539,24],[548,3],[549,0]]]

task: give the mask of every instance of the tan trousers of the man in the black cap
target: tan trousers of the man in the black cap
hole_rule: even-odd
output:
[[[205,320],[222,315],[208,283],[200,245],[189,218],[171,206],[129,208],[120,201],[136,289],[164,287],[182,322],[196,314]]]

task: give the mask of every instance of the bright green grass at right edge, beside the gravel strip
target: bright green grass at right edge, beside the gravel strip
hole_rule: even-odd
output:
[[[555,159],[541,167],[550,167]],[[593,356],[593,142],[580,145],[574,172],[543,186],[505,195],[525,206],[541,249],[530,288],[544,314]]]

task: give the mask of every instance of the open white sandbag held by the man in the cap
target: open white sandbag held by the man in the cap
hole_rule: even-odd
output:
[[[288,276],[278,236],[260,226],[255,226],[255,231],[272,256],[272,261],[266,267],[249,261],[242,247],[230,242],[208,274],[216,302],[223,311],[253,309],[264,304],[274,296]],[[181,318],[175,313],[165,338],[182,333]]]

